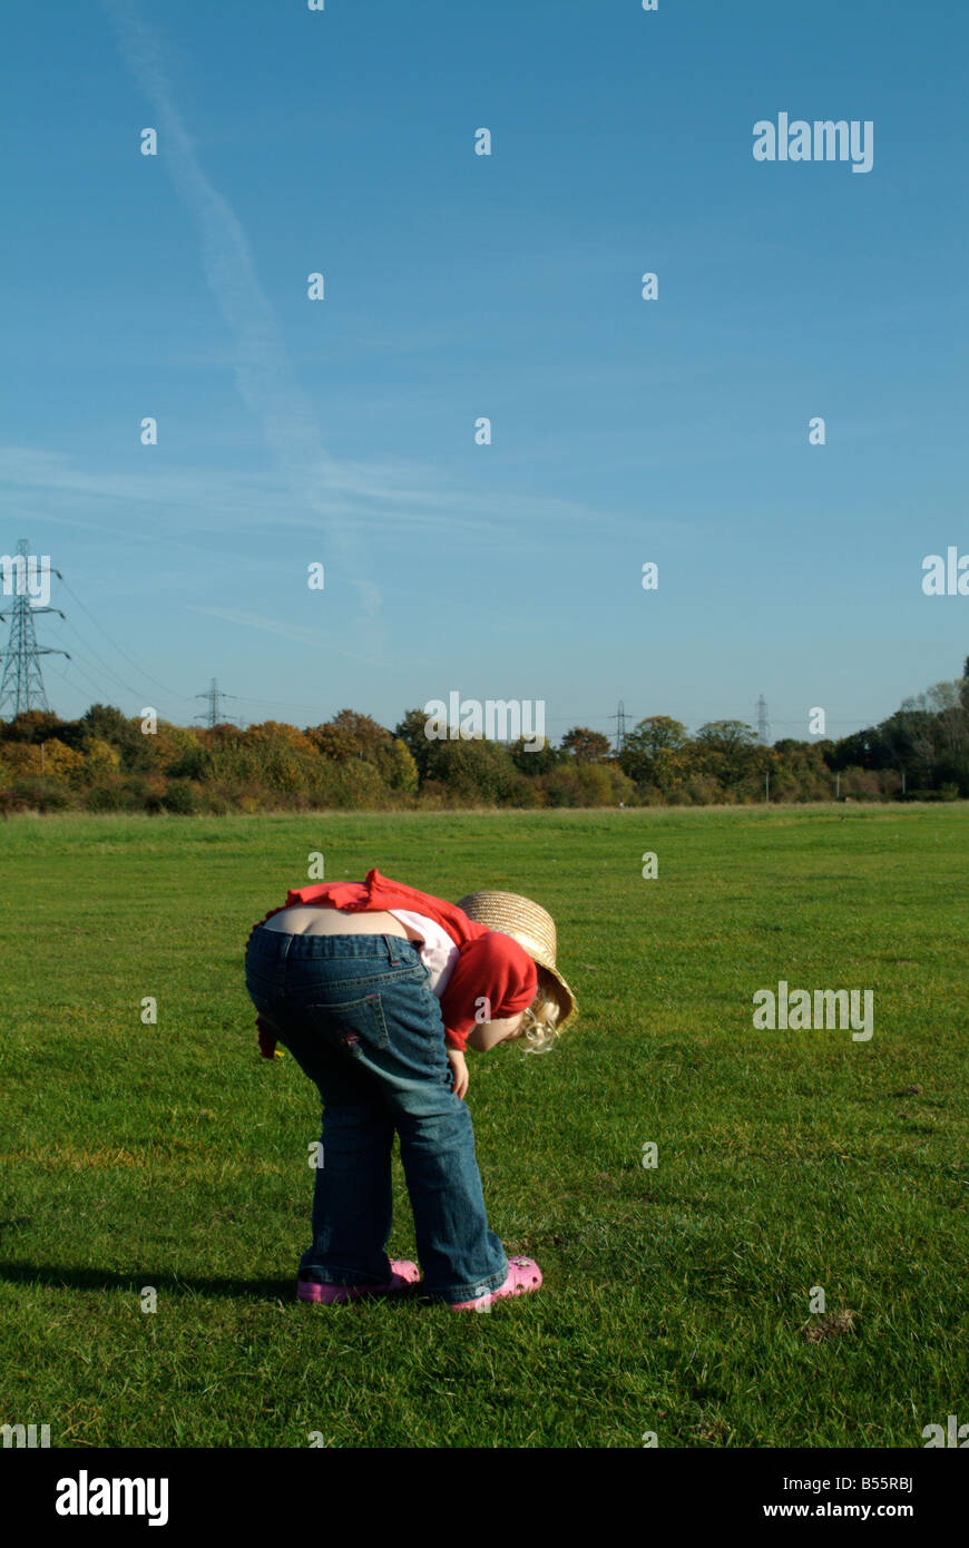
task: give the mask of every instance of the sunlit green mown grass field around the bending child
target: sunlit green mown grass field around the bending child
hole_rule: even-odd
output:
[[[969,1421],[966,805],[2,836],[0,1423],[53,1446],[918,1447]],[[467,1060],[491,1224],[539,1294],[296,1302],[319,1108],[259,1057],[241,964],[313,850],[327,879],[554,913],[579,1023]],[[873,1037],[754,1031],[779,980],[873,989]],[[395,1197],[409,1257],[396,1156]]]

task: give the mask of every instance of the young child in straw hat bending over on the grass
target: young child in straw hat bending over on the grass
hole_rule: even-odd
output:
[[[537,1289],[532,1259],[508,1259],[488,1228],[464,1050],[554,1043],[576,1015],[556,968],[556,926],[528,898],[446,902],[367,873],[291,890],[252,927],[246,989],[260,1048],[283,1043],[319,1088],[320,1164],[300,1300],[399,1294],[419,1280],[385,1252],[395,1132],[423,1289],[455,1310]]]

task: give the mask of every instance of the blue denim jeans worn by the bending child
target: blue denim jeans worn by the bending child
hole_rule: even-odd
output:
[[[467,1104],[452,1090],[441,1006],[396,935],[285,935],[260,926],[246,989],[324,1104],[313,1246],[300,1279],[385,1285],[395,1132],[426,1294],[472,1300],[508,1277],[488,1229]]]

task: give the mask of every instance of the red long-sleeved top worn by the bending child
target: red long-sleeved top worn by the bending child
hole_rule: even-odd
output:
[[[271,920],[274,913],[282,913],[283,909],[300,902],[330,902],[345,913],[412,909],[415,913],[426,913],[429,920],[435,920],[458,947],[458,960],[441,995],[444,1037],[452,1048],[463,1050],[467,1045],[467,1034],[475,1025],[475,1011],[481,998],[491,1002],[491,1015],[486,1019],[497,1022],[523,1011],[536,997],[539,988],[536,964],[525,947],[512,941],[511,935],[489,930],[488,926],[469,920],[455,902],[446,902],[443,898],[432,898],[430,893],[416,892],[415,887],[406,887],[399,881],[390,881],[378,870],[367,872],[365,881],[331,881],[291,889],[286,893],[286,901],[280,902],[279,909],[269,909],[266,918],[259,920],[252,930]],[[271,1059],[276,1040],[262,1025],[259,1045],[265,1057]]]

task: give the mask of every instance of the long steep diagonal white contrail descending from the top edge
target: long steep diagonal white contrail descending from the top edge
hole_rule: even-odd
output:
[[[320,444],[313,410],[293,379],[272,307],[255,276],[246,234],[229,201],[212,187],[198,164],[172,99],[158,34],[138,15],[132,0],[102,0],[102,5],[115,26],[121,56],[158,119],[161,159],[198,226],[209,289],[235,334],[238,392],[260,421],[296,498],[325,519],[327,508],[319,491],[336,478],[336,469]],[[354,574],[364,616],[373,618],[381,593],[364,577],[358,545],[345,533],[330,533],[328,545]]]

